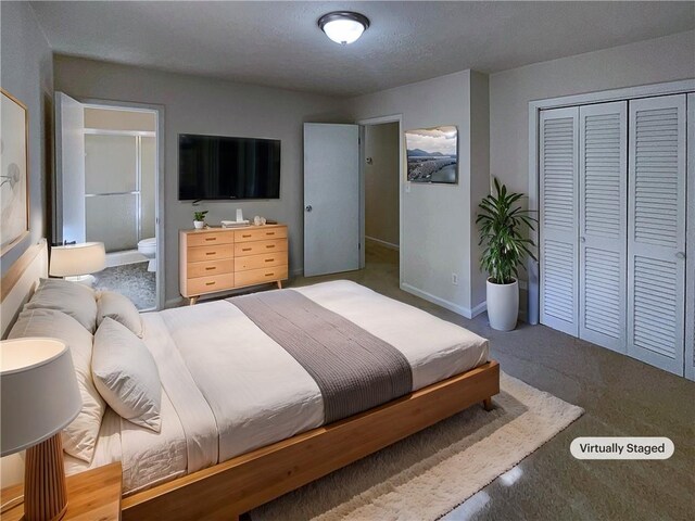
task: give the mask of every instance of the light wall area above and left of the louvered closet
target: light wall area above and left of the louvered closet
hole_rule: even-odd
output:
[[[695,31],[490,76],[490,171],[527,193],[529,101],[695,77]]]

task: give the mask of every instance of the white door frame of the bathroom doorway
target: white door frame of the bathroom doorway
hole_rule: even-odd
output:
[[[154,103],[138,103],[134,101],[101,100],[98,98],[75,98],[83,105],[89,107],[111,107],[123,109],[131,112],[154,112],[156,114],[156,126],[154,128],[154,139],[156,140],[156,171],[154,192],[155,213],[155,236],[156,236],[156,305],[155,310],[164,309],[166,303],[166,264],[164,257],[165,250],[165,200],[164,200],[164,105]]]

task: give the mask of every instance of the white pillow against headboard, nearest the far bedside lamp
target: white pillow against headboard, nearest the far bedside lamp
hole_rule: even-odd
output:
[[[41,279],[38,290],[24,309],[56,309],[70,315],[90,333],[97,329],[94,290],[63,279]]]

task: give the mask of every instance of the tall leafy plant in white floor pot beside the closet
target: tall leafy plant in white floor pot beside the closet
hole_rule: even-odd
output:
[[[480,244],[485,244],[481,267],[488,278],[488,318],[490,327],[511,331],[519,315],[518,267],[526,255],[535,259],[530,247],[533,241],[521,234],[521,228],[533,228],[536,220],[530,212],[515,203],[521,193],[507,193],[507,187],[494,180],[495,194],[490,194],[478,205],[476,224],[480,226]]]

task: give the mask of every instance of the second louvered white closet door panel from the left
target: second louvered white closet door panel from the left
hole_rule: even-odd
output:
[[[579,110],[579,336],[626,352],[628,102]]]

